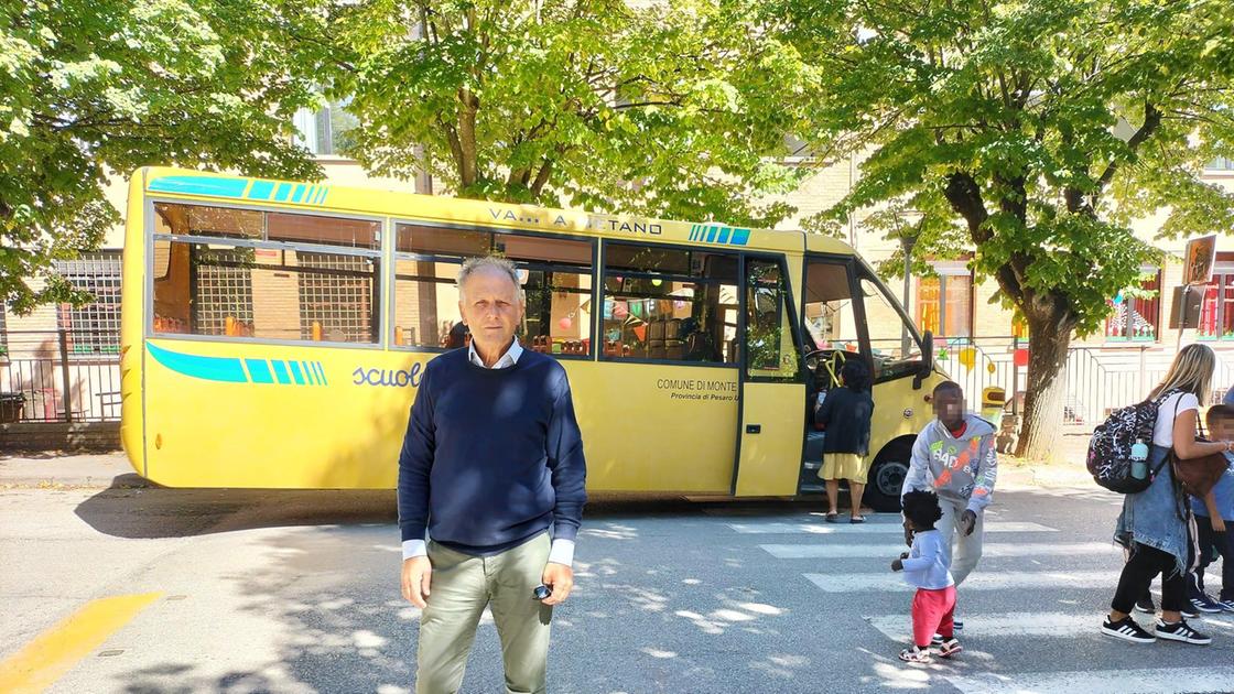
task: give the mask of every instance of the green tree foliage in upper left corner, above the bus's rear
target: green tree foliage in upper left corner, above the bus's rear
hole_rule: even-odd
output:
[[[255,0],[0,5],[0,301],[84,300],[54,262],[96,248],[112,177],[148,164],[316,178],[291,120],[320,99]]]

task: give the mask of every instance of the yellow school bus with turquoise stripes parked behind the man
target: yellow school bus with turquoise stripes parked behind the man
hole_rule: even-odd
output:
[[[818,390],[874,368],[868,501],[898,504],[940,374],[840,241],[264,180],[132,177],[122,424],[169,487],[392,488],[408,408],[465,345],[455,277],[515,262],[520,340],[561,362],[594,491],[817,493]]]

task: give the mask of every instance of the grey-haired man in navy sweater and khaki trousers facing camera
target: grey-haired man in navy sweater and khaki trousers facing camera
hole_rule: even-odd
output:
[[[428,363],[399,456],[402,595],[423,610],[416,692],[458,690],[486,605],[506,690],[544,692],[553,605],[574,587],[582,440],[565,369],[515,338],[515,265],[475,258],[458,283],[471,345]]]

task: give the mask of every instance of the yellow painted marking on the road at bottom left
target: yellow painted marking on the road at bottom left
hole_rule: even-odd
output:
[[[143,593],[86,603],[0,663],[0,692],[42,692],[51,687],[74,663],[162,596],[162,593]]]

